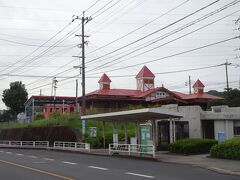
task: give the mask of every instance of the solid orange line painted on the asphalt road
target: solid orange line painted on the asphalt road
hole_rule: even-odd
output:
[[[57,178],[60,178],[60,179],[73,180],[72,178],[69,178],[69,177],[66,177],[66,176],[61,176],[61,175],[58,175],[58,174],[55,174],[55,173],[51,173],[51,172],[48,172],[48,171],[32,168],[32,167],[29,167],[29,166],[23,166],[21,164],[16,164],[16,163],[9,162],[9,161],[0,160],[0,162],[5,163],[5,164],[10,164],[10,165],[13,165],[13,166],[16,166],[16,167],[21,167],[23,169],[28,169],[28,170],[31,170],[31,171],[34,171],[34,172],[47,174],[49,176],[54,176],[54,177],[57,177]]]

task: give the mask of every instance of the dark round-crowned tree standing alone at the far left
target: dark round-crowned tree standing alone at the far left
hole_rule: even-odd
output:
[[[28,99],[28,93],[25,85],[21,81],[16,81],[10,83],[10,88],[3,91],[2,97],[2,101],[10,108],[10,112],[16,116],[24,111],[24,103]]]

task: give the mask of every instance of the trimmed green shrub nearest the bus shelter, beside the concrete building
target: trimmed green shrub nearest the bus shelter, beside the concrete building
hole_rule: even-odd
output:
[[[169,151],[178,154],[209,153],[211,147],[217,144],[212,139],[183,139],[169,145]]]

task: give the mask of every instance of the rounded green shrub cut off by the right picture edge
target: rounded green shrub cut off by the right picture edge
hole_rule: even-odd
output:
[[[213,146],[210,156],[224,159],[240,159],[240,138],[233,138]]]

